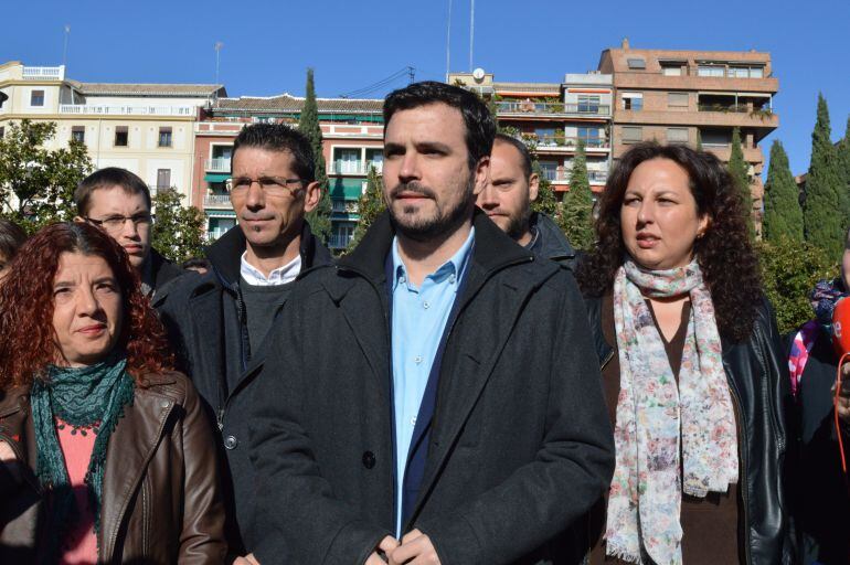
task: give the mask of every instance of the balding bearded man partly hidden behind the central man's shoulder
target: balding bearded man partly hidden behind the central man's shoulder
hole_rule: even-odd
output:
[[[575,250],[551,217],[532,212],[540,178],[531,169],[525,143],[496,135],[490,153],[490,178],[478,194],[478,205],[511,238],[536,257],[572,267]]]

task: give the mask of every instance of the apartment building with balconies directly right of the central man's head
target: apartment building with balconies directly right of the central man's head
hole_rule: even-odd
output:
[[[488,99],[499,125],[527,142],[556,192],[570,190],[570,170],[583,140],[591,188],[602,192],[612,154],[610,75],[592,72],[567,74],[562,83],[501,83],[479,70],[450,74],[448,82]]]

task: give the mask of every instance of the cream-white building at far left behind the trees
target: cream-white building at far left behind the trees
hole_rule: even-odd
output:
[[[24,118],[54,121],[49,148],[82,141],[96,169],[123,167],[152,190],[176,186],[188,195],[193,122],[219,96],[226,96],[221,85],[82,83],[64,66],[13,61],[0,65],[0,128]]]

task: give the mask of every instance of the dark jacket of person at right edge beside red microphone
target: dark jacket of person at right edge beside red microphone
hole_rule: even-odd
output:
[[[785,338],[786,358],[797,331]],[[819,331],[791,412],[796,444],[789,481],[794,486],[791,515],[805,565],[850,564],[850,492],[841,470],[831,393],[837,370],[831,339]],[[850,434],[844,433],[843,443],[850,459]]]

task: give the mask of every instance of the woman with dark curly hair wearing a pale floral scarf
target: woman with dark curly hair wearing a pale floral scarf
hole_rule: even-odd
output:
[[[787,365],[744,212],[720,161],[684,146],[636,146],[603,193],[576,274],[616,447],[592,564],[791,559]]]

